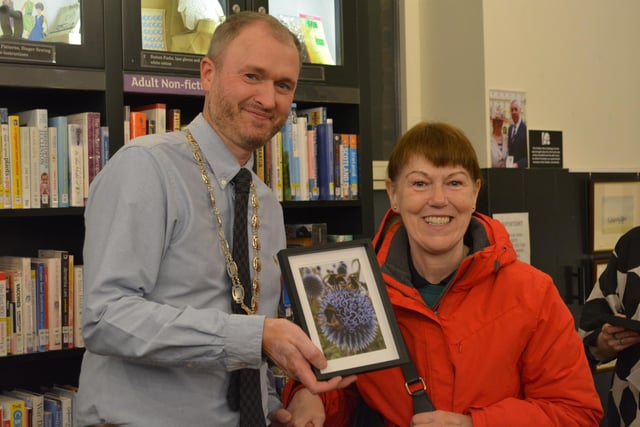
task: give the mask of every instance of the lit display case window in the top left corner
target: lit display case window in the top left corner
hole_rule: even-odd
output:
[[[0,31],[4,38],[82,44],[78,0],[2,0]]]

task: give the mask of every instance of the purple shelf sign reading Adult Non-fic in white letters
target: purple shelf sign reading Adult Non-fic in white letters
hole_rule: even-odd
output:
[[[199,77],[125,74],[124,91],[173,95],[204,95]]]

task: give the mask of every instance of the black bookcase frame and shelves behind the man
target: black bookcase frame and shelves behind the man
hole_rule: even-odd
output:
[[[129,11],[132,3],[139,2],[99,0],[89,7],[87,0],[81,0],[83,20],[93,27],[91,33],[98,32],[95,28],[104,29],[100,32],[99,45],[96,45],[95,37],[92,36],[91,43],[83,47],[97,50],[98,60],[95,60],[94,52],[88,56],[90,62],[83,64],[82,53],[77,47],[72,51],[75,54],[63,55],[63,59],[69,57],[73,60],[58,64],[12,62],[0,56],[3,68],[0,73],[0,91],[4,100],[1,106],[9,108],[11,113],[46,108],[50,115],[99,111],[101,125],[109,127],[111,155],[124,143],[124,105],[163,102],[168,109],[180,108],[182,123],[188,123],[202,110],[203,97],[200,94],[178,94],[172,91],[144,93],[126,88],[125,80],[132,75],[199,80],[197,71],[140,69],[125,61],[125,50],[129,44],[124,41],[131,37],[128,33],[129,15],[125,12]],[[358,12],[358,9],[368,10],[371,7],[368,0],[343,1],[342,4],[345,8],[342,18],[344,22],[355,23],[368,19],[367,14],[360,15]],[[99,24],[93,25],[96,20],[99,20]],[[345,52],[349,54],[347,67],[344,68],[347,78],[342,78],[339,70],[331,69],[324,73],[324,80],[319,80],[321,67],[305,66],[294,101],[300,108],[326,106],[328,115],[334,120],[336,132],[359,135],[359,141],[362,141],[358,153],[359,198],[345,201],[283,202],[283,209],[288,223],[325,222],[330,234],[372,237],[371,142],[376,140],[376,131],[369,129],[373,126],[370,125],[372,111],[370,107],[363,106],[362,102],[363,99],[372,99],[365,92],[373,89],[368,84],[369,73],[367,76],[360,75],[359,70],[362,71],[364,67],[358,68],[358,61],[361,57],[369,59],[368,54],[360,53],[361,49],[375,49],[375,46],[369,46],[369,41],[362,41],[368,40],[368,36],[365,39],[357,33],[364,31],[366,25],[345,27],[344,37],[348,40],[347,45],[351,46],[351,51]],[[367,84],[361,86],[360,79]],[[35,256],[38,248],[52,247],[69,250],[74,254],[76,264],[82,263],[82,208],[0,209],[0,230],[3,236],[0,239],[0,254]],[[39,385],[53,383],[77,384],[82,354],[82,349],[72,349],[1,357],[0,371],[5,374],[0,377],[0,390],[13,387],[36,389]]]

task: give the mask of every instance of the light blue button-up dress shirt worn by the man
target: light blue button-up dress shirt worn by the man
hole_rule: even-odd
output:
[[[230,183],[240,166],[202,115],[189,130],[206,159],[233,245]],[[85,210],[87,350],[79,425],[235,426],[238,414],[229,409],[226,392],[230,371],[243,367],[262,371],[265,416],[280,406],[261,341],[264,316],[277,310],[276,254],[286,237],[282,207],[253,178],[262,242],[254,316],[230,314],[231,281],[215,217],[184,133],[137,138],[95,178]]]

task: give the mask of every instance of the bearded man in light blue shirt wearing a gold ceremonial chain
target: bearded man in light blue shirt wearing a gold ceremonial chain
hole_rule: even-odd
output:
[[[135,139],[93,181],[79,425],[236,426],[240,417],[226,394],[231,372],[241,368],[260,370],[265,424],[285,424],[291,414],[281,408],[265,358],[312,391],[353,381],[317,381],[310,364],[326,365],[320,350],[296,325],[272,318],[284,221],[255,175],[260,221],[252,231],[250,207],[248,234],[261,243],[253,248],[261,265],[251,269],[257,312],[231,310],[224,250],[225,240],[233,246],[231,181],[240,168],[251,169],[253,152],[284,124],[299,70],[300,45],[277,20],[230,16],[201,62],[204,108],[188,131]]]

